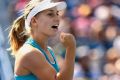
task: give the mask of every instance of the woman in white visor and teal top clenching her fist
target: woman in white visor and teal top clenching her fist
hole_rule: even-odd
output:
[[[47,46],[48,38],[59,32],[58,12],[65,7],[65,2],[32,0],[25,7],[24,15],[14,21],[9,38],[16,59],[15,80],[72,80],[76,48],[74,37],[69,33],[60,34],[60,40],[66,47],[61,68],[52,49]]]

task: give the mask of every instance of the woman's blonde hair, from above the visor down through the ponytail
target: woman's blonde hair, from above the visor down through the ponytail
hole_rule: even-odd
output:
[[[13,55],[19,50],[19,48],[25,43],[29,35],[26,35],[25,18],[29,12],[42,0],[31,0],[24,9],[24,14],[18,17],[12,24],[9,32],[10,48]],[[28,31],[28,30],[27,30]]]

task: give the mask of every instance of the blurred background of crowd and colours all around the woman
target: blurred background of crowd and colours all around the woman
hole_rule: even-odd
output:
[[[28,1],[0,0],[0,80],[14,80],[8,33]],[[64,1],[60,30],[73,34],[77,42],[74,80],[120,80],[120,0]],[[65,48],[59,35],[49,45],[62,66]]]

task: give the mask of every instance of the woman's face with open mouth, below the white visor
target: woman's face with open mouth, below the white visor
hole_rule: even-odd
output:
[[[32,28],[36,35],[53,36],[58,32],[58,26],[58,11],[56,8],[50,8],[34,17],[34,26]]]

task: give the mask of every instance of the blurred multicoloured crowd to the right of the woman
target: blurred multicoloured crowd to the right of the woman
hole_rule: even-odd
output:
[[[120,1],[66,0],[77,41],[74,77],[120,80]]]

